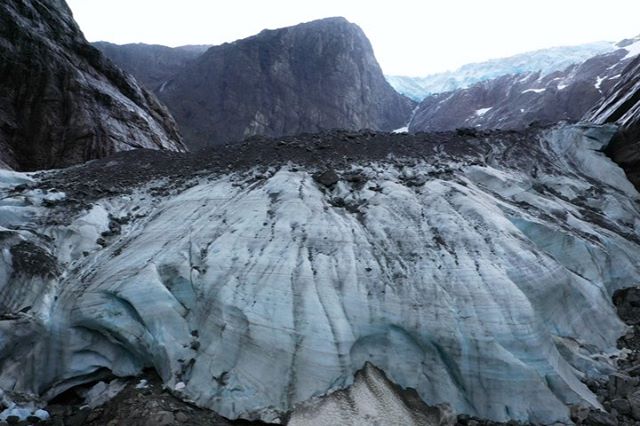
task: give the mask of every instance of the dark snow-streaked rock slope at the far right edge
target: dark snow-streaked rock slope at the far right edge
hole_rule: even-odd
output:
[[[623,71],[618,84],[586,117],[595,123],[620,126],[607,152],[640,187],[640,57]]]

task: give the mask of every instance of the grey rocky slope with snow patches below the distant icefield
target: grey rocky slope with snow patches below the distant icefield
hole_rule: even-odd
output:
[[[617,83],[640,42],[563,71],[507,75],[427,97],[410,131],[462,127],[523,129],[531,123],[578,121]]]

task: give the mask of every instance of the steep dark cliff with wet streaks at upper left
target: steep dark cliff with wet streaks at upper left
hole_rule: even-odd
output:
[[[185,149],[166,108],[86,42],[64,0],[0,4],[0,77],[0,166]]]

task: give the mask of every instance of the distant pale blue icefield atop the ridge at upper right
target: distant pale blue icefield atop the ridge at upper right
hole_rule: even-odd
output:
[[[455,71],[432,74],[426,77],[389,75],[387,80],[398,92],[415,101],[421,101],[429,95],[466,89],[476,83],[506,75],[540,72],[540,75],[544,77],[555,71],[562,71],[571,65],[584,62],[593,56],[612,52],[616,48],[616,45],[608,42],[552,47],[507,58],[467,64]]]

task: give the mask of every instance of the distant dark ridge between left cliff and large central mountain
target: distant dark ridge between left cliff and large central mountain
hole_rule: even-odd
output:
[[[154,91],[211,47],[189,45],[172,48],[144,43],[118,45],[106,41],[92,44],[121,69]]]

